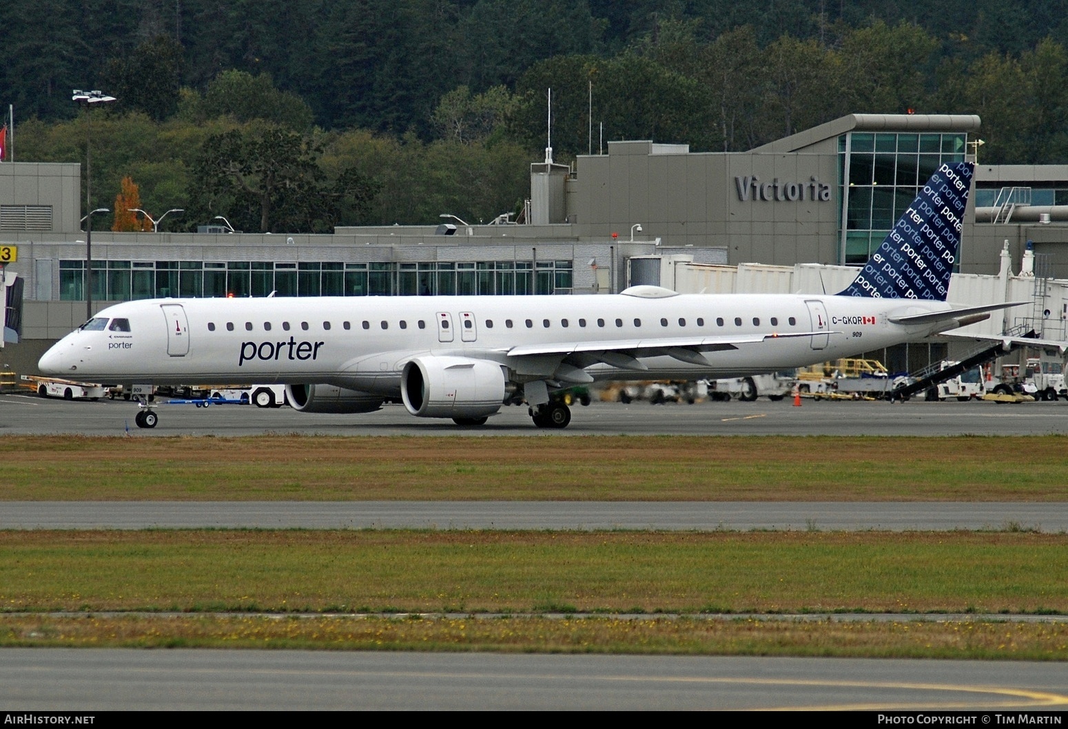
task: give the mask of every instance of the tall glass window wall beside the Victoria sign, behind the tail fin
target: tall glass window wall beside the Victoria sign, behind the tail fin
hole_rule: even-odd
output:
[[[963,132],[852,131],[839,137],[843,263],[865,264],[939,167],[963,161],[965,141]]]

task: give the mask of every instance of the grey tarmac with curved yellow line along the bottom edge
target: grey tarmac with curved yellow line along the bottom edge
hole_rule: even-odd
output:
[[[47,681],[44,678],[47,677]],[[242,650],[0,650],[28,711],[891,710],[970,723],[1068,707],[1068,664]],[[985,717],[985,718],[984,718]],[[873,725],[877,717],[869,719]],[[938,723],[932,716],[917,724]]]

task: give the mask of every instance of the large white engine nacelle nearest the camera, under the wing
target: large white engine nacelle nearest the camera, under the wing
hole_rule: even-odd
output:
[[[404,407],[420,417],[486,417],[501,409],[506,394],[504,368],[486,360],[421,356],[400,375]]]

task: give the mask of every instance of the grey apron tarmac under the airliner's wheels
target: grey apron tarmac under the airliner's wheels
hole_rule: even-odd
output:
[[[986,401],[593,402],[572,406],[563,430],[537,428],[525,407],[505,407],[484,426],[414,417],[403,406],[375,413],[314,414],[247,405],[157,405],[159,425],[138,428],[135,403],[125,400],[45,399],[0,395],[0,433],[84,435],[1028,435],[1068,433],[1068,401],[1003,405]]]

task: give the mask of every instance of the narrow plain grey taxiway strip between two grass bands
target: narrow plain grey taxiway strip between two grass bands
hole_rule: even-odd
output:
[[[969,502],[0,502],[2,529],[1068,532],[1068,507]]]

